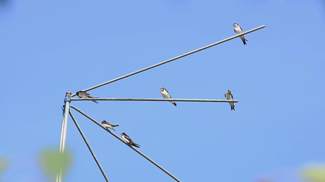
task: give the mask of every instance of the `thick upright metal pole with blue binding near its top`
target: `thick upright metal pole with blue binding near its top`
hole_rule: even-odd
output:
[[[60,134],[60,144],[59,144],[59,153],[62,154],[64,149],[66,149],[66,141],[67,141],[67,129],[68,129],[68,114],[69,107],[71,101],[71,91],[68,90],[66,92],[66,97],[64,97],[64,108],[62,114],[62,124],[61,124],[61,134]],[[62,181],[62,169],[56,175],[56,182]]]

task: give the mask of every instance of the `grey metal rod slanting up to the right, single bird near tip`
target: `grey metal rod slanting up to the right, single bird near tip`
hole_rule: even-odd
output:
[[[118,77],[118,78],[115,78],[115,79],[112,79],[112,80],[106,81],[106,82],[104,82],[104,83],[101,83],[101,84],[98,84],[98,85],[95,85],[95,86],[92,86],[92,87],[89,87],[89,88],[83,89],[82,91],[92,90],[92,89],[94,89],[94,88],[98,88],[98,87],[100,87],[100,86],[104,86],[104,85],[109,84],[109,83],[112,83],[112,82],[114,82],[114,81],[118,81],[118,80],[120,80],[120,79],[123,79],[123,78],[129,77],[129,76],[132,76],[132,75],[135,75],[135,74],[141,73],[141,72],[146,71],[146,70],[148,70],[148,69],[151,69],[151,68],[154,68],[154,67],[157,67],[157,66],[160,66],[160,65],[163,65],[163,64],[169,63],[169,62],[171,62],[171,61],[175,61],[175,60],[177,60],[177,59],[179,59],[179,58],[183,58],[183,57],[185,57],[185,56],[191,55],[191,54],[193,54],[193,53],[197,53],[197,52],[199,52],[199,51],[202,51],[202,50],[205,50],[205,49],[211,48],[211,47],[213,47],[214,45],[217,45],[217,44],[220,44],[220,43],[226,42],[226,41],[228,41],[228,40],[231,40],[231,39],[237,38],[237,37],[242,36],[242,35],[245,35],[245,34],[247,34],[247,33],[251,33],[251,32],[253,32],[253,31],[256,31],[256,30],[262,29],[262,28],[264,28],[264,27],[266,27],[266,25],[262,25],[262,26],[259,26],[259,27],[256,27],[256,28],[253,28],[253,29],[250,29],[250,30],[245,31],[245,32],[243,32],[243,33],[240,33],[240,34],[237,34],[237,35],[231,36],[231,37],[229,37],[229,38],[225,38],[225,39],[223,39],[223,40],[220,40],[220,41],[214,42],[214,43],[212,43],[212,44],[206,45],[205,47],[199,48],[199,49],[197,49],[197,50],[190,51],[190,52],[185,53],[185,54],[182,54],[182,55],[180,55],[180,56],[176,56],[176,57],[174,57],[174,58],[172,58],[172,59],[169,59],[169,60],[166,60],[166,61],[163,61],[163,62],[160,62],[160,63],[154,64],[154,65],[152,65],[152,66],[149,66],[149,67],[146,67],[146,68],[140,69],[140,70],[135,71],[135,72],[132,72],[132,73],[128,73],[128,74],[126,74],[126,75],[123,75],[123,76],[120,76],[120,77]],[[76,94],[73,94],[72,97],[74,97],[75,95],[76,95]]]

